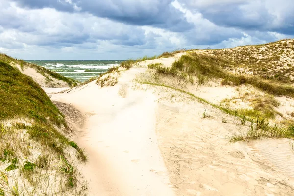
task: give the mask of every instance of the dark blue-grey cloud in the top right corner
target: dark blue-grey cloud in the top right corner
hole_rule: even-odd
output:
[[[179,0],[216,25],[294,35],[290,0]]]

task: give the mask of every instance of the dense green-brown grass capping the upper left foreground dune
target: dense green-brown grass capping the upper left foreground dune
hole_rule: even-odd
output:
[[[16,117],[66,126],[63,114],[32,78],[0,61],[0,121]]]

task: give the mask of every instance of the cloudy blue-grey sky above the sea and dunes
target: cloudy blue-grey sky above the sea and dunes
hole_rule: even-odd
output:
[[[0,0],[0,52],[125,60],[294,38],[293,0]]]

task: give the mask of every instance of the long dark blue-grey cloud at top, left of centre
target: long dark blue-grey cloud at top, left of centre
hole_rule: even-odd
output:
[[[193,28],[172,0],[14,0],[28,8],[54,8],[67,12],[87,12],[130,25],[149,25],[183,32]]]

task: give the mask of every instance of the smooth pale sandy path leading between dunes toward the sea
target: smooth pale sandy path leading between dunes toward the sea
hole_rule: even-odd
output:
[[[92,82],[52,94],[52,100],[86,114],[75,140],[89,154],[89,162],[81,166],[89,195],[174,195],[157,144],[155,97],[130,88],[139,70],[123,74],[114,87],[100,89]]]

